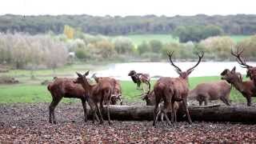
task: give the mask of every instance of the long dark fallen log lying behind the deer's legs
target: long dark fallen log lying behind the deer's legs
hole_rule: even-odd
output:
[[[110,106],[110,118],[122,121],[152,121],[154,106]],[[193,121],[256,123],[254,106],[189,106]],[[106,118],[106,107],[103,117]],[[91,112],[90,115],[91,117]],[[170,118],[170,114],[168,114]],[[186,120],[182,109],[178,110],[178,121]]]

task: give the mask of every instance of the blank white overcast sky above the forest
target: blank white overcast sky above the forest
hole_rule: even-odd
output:
[[[1,0],[0,14],[256,14],[256,0]]]

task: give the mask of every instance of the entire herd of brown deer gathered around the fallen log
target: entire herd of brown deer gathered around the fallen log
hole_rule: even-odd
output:
[[[150,90],[150,76],[149,74],[138,74],[134,70],[131,70],[128,74],[134,83],[137,84],[137,89],[144,91],[142,83],[148,86],[146,93],[142,94],[142,99],[146,101],[146,105],[154,106],[154,122],[155,126],[159,114],[161,114],[161,120],[166,118],[166,122],[170,125],[171,122],[177,122],[176,112],[178,107],[183,106],[186,111],[186,117],[189,123],[192,123],[187,101],[189,99],[196,99],[199,105],[204,102],[205,105],[210,100],[220,99],[226,105],[230,106],[230,90],[234,86],[247,100],[247,106],[251,106],[251,97],[256,96],[256,67],[249,66],[242,58],[243,50],[237,50],[234,53],[231,50],[231,54],[235,56],[237,62],[247,69],[246,77],[250,80],[242,82],[242,74],[236,72],[235,67],[233,70],[223,70],[221,73],[221,79],[218,82],[201,83],[189,90],[188,77],[196,66],[201,62],[204,53],[198,54],[198,62],[195,66],[186,71],[182,71],[172,61],[174,52],[168,53],[170,65],[174,66],[176,72],[179,74],[178,78],[162,77],[154,84],[154,90]],[[90,79],[86,78],[89,74],[87,71],[85,74],[79,74],[78,78],[54,78],[54,82],[48,85],[48,90],[52,95],[52,102],[49,106],[49,122],[56,123],[54,109],[58,105],[58,102],[62,98],[80,98],[84,109],[85,122],[87,121],[86,102],[90,106],[93,112],[93,122],[96,118],[101,124],[103,123],[102,109],[103,105],[106,105],[107,118],[110,122],[110,105],[115,105],[118,100],[122,105],[122,89],[118,80],[114,78],[98,78],[93,74],[92,78],[95,80],[95,84],[91,84]],[[99,118],[97,115],[99,114]],[[171,112],[171,122],[167,116],[167,112]]]

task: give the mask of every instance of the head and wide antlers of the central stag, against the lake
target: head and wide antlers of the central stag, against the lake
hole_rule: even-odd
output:
[[[171,66],[174,66],[176,72],[179,74],[179,77],[180,77],[180,78],[184,78],[184,79],[188,78],[188,76],[191,74],[191,72],[194,70],[194,68],[195,68],[196,66],[198,66],[198,64],[201,62],[202,57],[203,57],[203,55],[204,55],[203,52],[202,52],[201,54],[198,54],[198,62],[197,62],[197,64],[194,65],[193,67],[191,67],[190,69],[186,70],[186,71],[182,71],[178,66],[174,65],[174,62],[173,62],[172,59],[171,59],[172,56],[173,56],[173,54],[174,54],[174,51],[173,51],[173,52],[168,52],[167,54],[168,54],[168,56],[169,56],[170,65],[171,65]]]

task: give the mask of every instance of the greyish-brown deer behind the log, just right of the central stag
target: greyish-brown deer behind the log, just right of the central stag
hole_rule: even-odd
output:
[[[196,99],[199,106],[202,106],[202,102],[207,106],[209,101],[218,99],[230,106],[230,90],[231,86],[225,81],[201,83],[190,90],[188,98]]]

